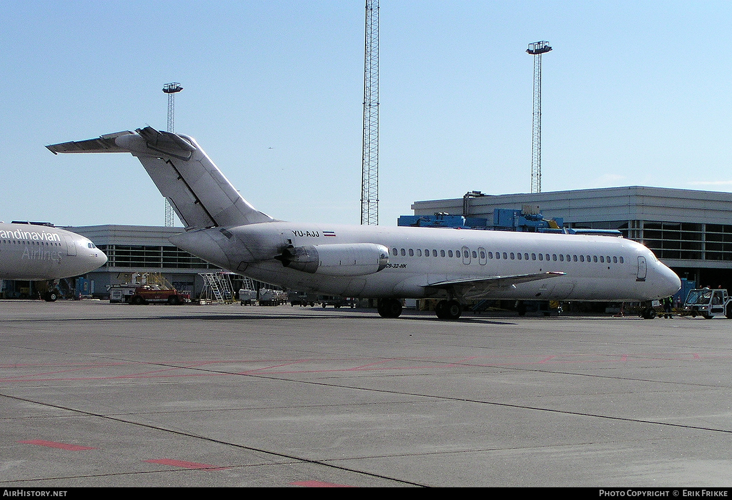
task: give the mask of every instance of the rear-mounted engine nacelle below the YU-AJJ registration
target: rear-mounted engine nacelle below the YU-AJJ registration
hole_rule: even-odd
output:
[[[378,273],[389,263],[389,249],[376,243],[295,246],[276,257],[285,268],[326,276]]]

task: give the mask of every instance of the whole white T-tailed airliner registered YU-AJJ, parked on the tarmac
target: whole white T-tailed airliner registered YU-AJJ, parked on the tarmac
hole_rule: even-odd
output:
[[[149,126],[47,148],[131,153],[186,224],[174,245],[289,289],[378,298],[382,317],[398,317],[402,298],[437,298],[437,316],[456,319],[468,300],[653,300],[681,286],[649,249],[624,238],[272,219],[193,137]]]

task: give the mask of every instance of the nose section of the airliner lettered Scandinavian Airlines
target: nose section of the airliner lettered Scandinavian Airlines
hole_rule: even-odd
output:
[[[0,279],[69,278],[106,262],[103,251],[75,232],[45,224],[0,222]]]

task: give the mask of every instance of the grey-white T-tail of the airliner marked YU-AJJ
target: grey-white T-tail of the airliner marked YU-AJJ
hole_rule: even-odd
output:
[[[57,153],[131,153],[186,225],[242,226],[274,221],[244,200],[193,137],[146,126],[135,132],[46,146]]]

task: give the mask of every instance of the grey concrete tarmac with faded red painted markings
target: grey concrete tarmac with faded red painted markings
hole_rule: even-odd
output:
[[[732,485],[732,321],[0,301],[0,486]]]

